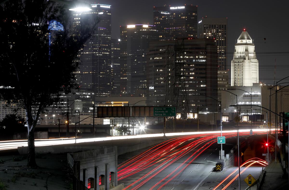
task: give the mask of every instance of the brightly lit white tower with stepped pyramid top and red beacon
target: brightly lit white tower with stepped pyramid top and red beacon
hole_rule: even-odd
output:
[[[235,44],[231,86],[253,86],[253,83],[259,83],[259,63],[253,40],[244,29]]]

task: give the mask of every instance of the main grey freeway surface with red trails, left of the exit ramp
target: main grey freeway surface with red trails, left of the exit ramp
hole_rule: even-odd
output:
[[[225,134],[226,137],[230,135],[236,136],[235,133]],[[220,148],[216,144],[216,136],[218,135],[188,135],[189,139],[178,139],[181,144],[171,145],[175,145],[173,150],[168,150],[167,153],[164,151],[164,156],[159,155],[163,153],[161,149],[159,154],[154,153],[159,157],[150,157],[151,154],[146,153],[133,158],[129,164],[124,163],[126,169],[119,166],[119,182],[124,183],[126,189],[198,189],[208,183],[214,186],[212,184],[215,181],[207,178],[214,173],[213,162],[218,160]],[[163,149],[166,150],[165,147]]]

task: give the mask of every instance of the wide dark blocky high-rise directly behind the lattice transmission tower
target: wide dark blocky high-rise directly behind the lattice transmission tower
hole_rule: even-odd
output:
[[[176,81],[177,84],[173,84],[173,87],[182,83],[187,101],[182,100],[178,105],[188,104],[188,111],[192,113],[197,112],[197,107],[203,110],[208,108],[208,112],[217,111],[218,102],[212,99],[218,98],[218,53],[214,40],[186,39],[182,44],[182,48],[179,49],[180,46],[175,41],[150,43],[147,51],[147,105],[172,104],[165,100],[172,93],[167,90],[168,86],[171,86],[169,78],[181,76],[179,79],[183,81]],[[178,56],[176,51],[184,56]],[[172,74],[167,66],[170,63],[175,64],[175,68],[183,64],[183,68],[180,69],[183,72]],[[179,92],[180,96],[181,94],[184,92]]]

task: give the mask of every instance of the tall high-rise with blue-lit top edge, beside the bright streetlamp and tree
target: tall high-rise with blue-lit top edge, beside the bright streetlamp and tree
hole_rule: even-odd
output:
[[[92,4],[90,11],[74,12],[73,25],[87,23],[94,26],[91,39],[80,53],[77,82],[80,89],[93,90],[95,96],[109,96],[112,92],[111,69],[111,5]]]

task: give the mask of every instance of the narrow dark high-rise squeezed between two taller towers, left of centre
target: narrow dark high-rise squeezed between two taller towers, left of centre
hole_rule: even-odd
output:
[[[120,94],[121,85],[121,39],[111,40],[112,94]]]

